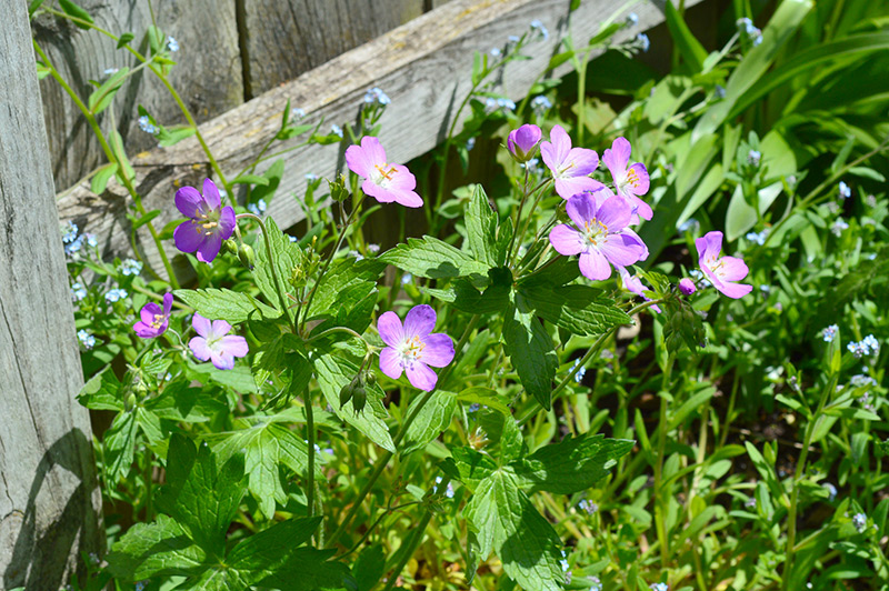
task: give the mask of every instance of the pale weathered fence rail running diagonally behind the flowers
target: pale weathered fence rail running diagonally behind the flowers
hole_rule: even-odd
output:
[[[697,2],[687,6],[693,3]],[[326,124],[342,123],[356,120],[364,91],[379,86],[392,99],[381,120],[380,140],[391,161],[404,162],[442,141],[457,104],[469,91],[473,51],[488,51],[539,19],[550,31],[549,39],[529,48],[533,58],[512,62],[502,77],[506,93],[516,99],[522,97],[558,52],[559,39],[568,27],[568,6],[565,0],[452,0],[208,121],[201,126],[202,133],[223,171],[233,174],[249,164],[278,131],[288,99],[292,107],[307,111],[307,122],[323,117]],[[571,14],[575,39],[582,42],[597,32],[612,7],[611,0],[583,1]],[[639,3],[635,11],[639,27],[623,31],[626,37],[663,21],[662,2]],[[553,74],[569,70],[570,66],[565,64]],[[298,138],[280,146],[300,141]],[[303,218],[298,200],[304,194],[306,173],[333,178],[343,170],[344,149],[346,146],[299,148],[283,157],[284,176],[268,211],[280,227]],[[179,218],[172,199],[176,189],[183,184],[197,187],[210,174],[194,139],[139,154],[133,163],[147,209],[162,210],[158,227]],[[106,254],[124,256],[130,247],[129,226],[121,214],[126,209],[123,196],[113,183],[102,196],[92,194],[88,183],[82,183],[60,199],[60,214],[99,234]],[[159,258],[146,236],[140,234],[140,243],[151,267],[159,269]],[[172,246],[168,252],[174,252]]]

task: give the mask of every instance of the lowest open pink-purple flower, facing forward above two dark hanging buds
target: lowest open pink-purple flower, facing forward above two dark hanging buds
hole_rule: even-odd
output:
[[[377,321],[377,330],[388,344],[380,351],[380,370],[397,380],[404,371],[411,385],[436,388],[438,375],[429,369],[443,368],[453,360],[453,341],[443,333],[432,333],[436,311],[431,305],[416,305],[404,317],[404,325],[394,312],[386,312]]]

